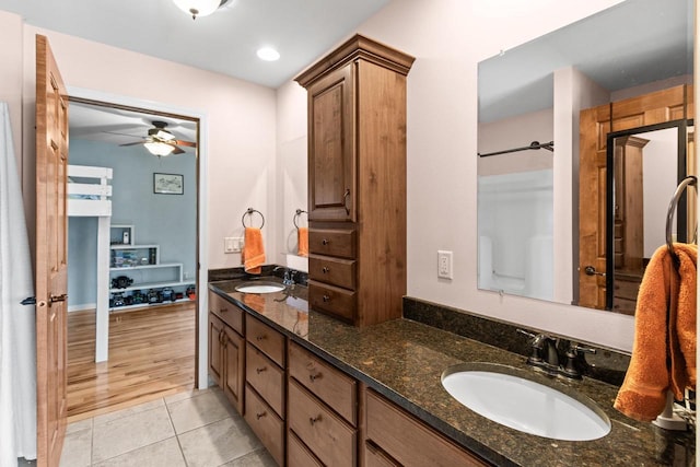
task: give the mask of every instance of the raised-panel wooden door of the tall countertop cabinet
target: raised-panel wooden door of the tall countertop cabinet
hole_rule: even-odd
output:
[[[354,65],[308,87],[308,219],[355,220]]]

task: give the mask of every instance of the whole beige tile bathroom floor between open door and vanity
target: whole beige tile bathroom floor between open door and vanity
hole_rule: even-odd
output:
[[[231,408],[223,393],[209,388],[70,423],[60,465],[268,467],[277,464]]]

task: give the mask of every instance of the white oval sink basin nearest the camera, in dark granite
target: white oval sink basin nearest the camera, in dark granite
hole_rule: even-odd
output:
[[[442,385],[480,416],[525,433],[591,441],[610,432],[610,420],[590,398],[536,383],[527,372],[511,366],[451,366],[442,375]]]

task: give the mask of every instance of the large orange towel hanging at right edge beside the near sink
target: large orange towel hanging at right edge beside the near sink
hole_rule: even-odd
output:
[[[634,313],[634,343],[615,408],[640,421],[654,420],[666,393],[682,398],[696,385],[696,245],[674,244],[678,269],[666,246],[652,256]]]

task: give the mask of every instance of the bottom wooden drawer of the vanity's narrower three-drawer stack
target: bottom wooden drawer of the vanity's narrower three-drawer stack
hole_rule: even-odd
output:
[[[283,465],[284,422],[248,385],[245,387],[244,418],[277,465]]]

